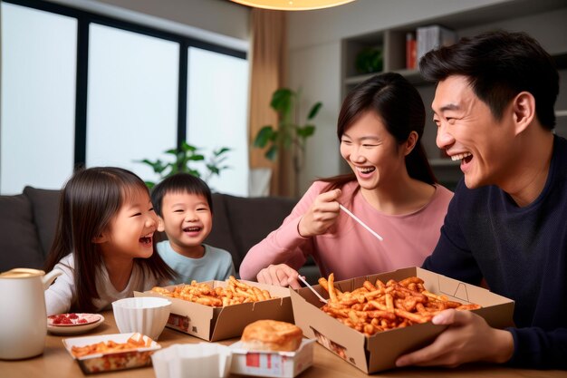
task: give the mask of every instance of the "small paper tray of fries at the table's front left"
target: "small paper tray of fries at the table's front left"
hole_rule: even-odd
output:
[[[161,348],[139,333],[72,337],[63,339],[62,343],[85,374],[148,366],[151,354]]]

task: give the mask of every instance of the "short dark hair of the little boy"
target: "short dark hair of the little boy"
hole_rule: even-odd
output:
[[[189,173],[176,173],[173,176],[163,179],[151,190],[151,203],[159,217],[162,217],[161,205],[163,198],[168,193],[188,193],[204,196],[207,199],[211,214],[213,213],[211,189],[205,181],[199,179],[197,176],[193,176]]]

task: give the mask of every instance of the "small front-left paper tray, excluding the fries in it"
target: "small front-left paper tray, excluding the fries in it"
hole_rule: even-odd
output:
[[[84,346],[101,342],[105,343],[111,340],[116,343],[126,343],[133,334],[136,333],[72,337],[62,339],[62,343],[67,352],[71,354],[72,358],[77,360],[82,372],[85,374],[103,373],[147,366],[151,363],[151,354],[161,348],[161,345],[153,340],[148,347],[137,348],[130,351],[114,351],[105,354],[87,354],[81,357],[75,357],[71,352],[73,346]],[[144,340],[148,340],[148,336],[142,335],[142,337]]]

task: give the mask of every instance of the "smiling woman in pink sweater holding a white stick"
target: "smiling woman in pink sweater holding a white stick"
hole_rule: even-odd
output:
[[[240,276],[297,288],[297,269],[309,256],[322,276],[336,279],[420,266],[437,244],[453,197],[429,167],[420,142],[424,126],[421,97],[401,75],[360,83],[344,100],[337,129],[351,174],[313,183],[283,225],[248,251]]]

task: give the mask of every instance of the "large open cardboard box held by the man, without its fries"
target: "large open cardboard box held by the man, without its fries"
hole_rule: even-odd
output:
[[[504,328],[514,324],[512,320],[513,300],[495,295],[482,287],[469,285],[419,267],[407,267],[388,273],[337,281],[335,287],[342,292],[352,291],[361,287],[365,280],[372,283],[377,278],[383,282],[389,279],[400,281],[409,276],[418,276],[425,281],[424,285],[428,291],[445,295],[449,300],[481,305],[482,308],[473,311],[483,316],[486,322],[495,328]],[[327,291],[321,286],[313,287],[323,297],[329,297]],[[446,328],[444,325],[433,325],[428,322],[367,336],[325,314],[321,310],[322,302],[308,287],[289,290],[295,325],[302,328],[303,335],[317,339],[320,344],[364,373],[375,373],[394,368],[396,359],[400,355],[430,344],[437,334]]]

